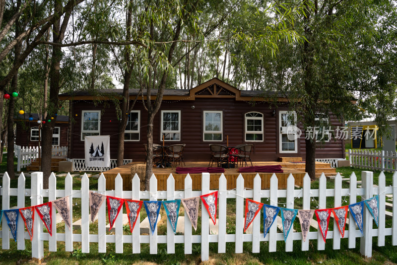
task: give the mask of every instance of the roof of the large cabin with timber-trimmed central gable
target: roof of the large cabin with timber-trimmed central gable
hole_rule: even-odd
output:
[[[130,99],[136,97],[139,89],[130,89]],[[151,89],[150,95],[155,97],[158,89]],[[120,97],[123,89],[101,89],[93,93],[91,90],[80,90],[60,94],[61,100],[94,100],[111,99]],[[276,92],[266,93],[260,90],[240,90],[218,78],[212,78],[192,89],[165,89],[163,100],[195,100],[196,98],[235,98],[236,100],[263,101],[265,98],[274,97],[278,101],[287,101],[281,94]],[[147,91],[143,90],[143,97],[147,97]]]

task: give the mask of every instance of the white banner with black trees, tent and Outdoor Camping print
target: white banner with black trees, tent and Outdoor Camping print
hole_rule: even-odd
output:
[[[110,135],[85,136],[85,164],[87,167],[110,167]]]

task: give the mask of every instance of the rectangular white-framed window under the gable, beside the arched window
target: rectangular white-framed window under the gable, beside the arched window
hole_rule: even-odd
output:
[[[204,141],[222,141],[222,111],[204,111]]]

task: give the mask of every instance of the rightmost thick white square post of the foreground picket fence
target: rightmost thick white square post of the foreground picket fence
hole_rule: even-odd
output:
[[[383,154],[383,152],[382,152]],[[364,189],[365,199],[370,199],[373,195],[373,180],[374,173],[371,171],[361,172],[361,185]],[[364,199],[362,199],[364,200]],[[363,234],[364,237],[360,239],[360,253],[361,255],[371,258],[372,257],[372,215],[364,204],[364,216],[363,216]]]

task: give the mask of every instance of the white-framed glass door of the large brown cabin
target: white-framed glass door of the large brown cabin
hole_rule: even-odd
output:
[[[297,152],[296,113],[279,111],[280,153]]]

